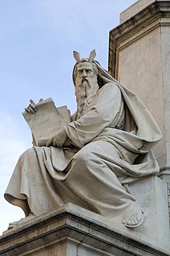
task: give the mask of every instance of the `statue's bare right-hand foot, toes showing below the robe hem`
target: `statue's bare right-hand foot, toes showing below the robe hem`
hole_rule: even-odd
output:
[[[131,217],[129,217],[128,219],[123,221],[123,224],[125,224],[125,226],[127,228],[136,228],[138,226],[140,226],[143,222],[143,214],[140,210],[138,210],[137,212],[135,212],[133,215],[131,215]]]

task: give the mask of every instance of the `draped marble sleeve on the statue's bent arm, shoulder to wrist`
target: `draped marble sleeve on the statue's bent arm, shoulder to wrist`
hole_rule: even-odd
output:
[[[116,127],[123,109],[123,97],[114,83],[105,84],[94,97],[89,111],[65,127],[72,144],[79,148],[96,138],[105,127]]]

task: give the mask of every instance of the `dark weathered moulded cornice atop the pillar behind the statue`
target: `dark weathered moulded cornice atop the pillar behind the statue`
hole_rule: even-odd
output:
[[[164,18],[161,20],[161,18]],[[159,26],[160,24],[168,24],[166,21],[170,18],[170,4],[169,1],[156,1],[147,6],[144,10],[141,10],[138,14],[128,19],[123,24],[120,24],[109,32],[109,72],[116,79],[118,79],[118,73],[116,71],[116,59],[118,47],[132,35],[140,36],[141,33],[147,33],[148,29],[153,26]],[[143,31],[144,30],[144,31]]]

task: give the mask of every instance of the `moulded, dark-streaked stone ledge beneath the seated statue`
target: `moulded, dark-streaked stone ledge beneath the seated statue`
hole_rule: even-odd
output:
[[[111,221],[72,203],[3,232],[0,255],[169,255],[138,238],[139,230],[123,232]]]

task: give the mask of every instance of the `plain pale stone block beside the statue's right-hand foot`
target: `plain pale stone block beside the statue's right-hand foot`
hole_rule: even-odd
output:
[[[130,185],[131,194],[145,212],[145,222],[142,228],[142,237],[146,241],[153,240],[154,244],[170,246],[169,208],[167,183],[157,176],[143,177]],[[152,243],[152,242],[151,242]]]

